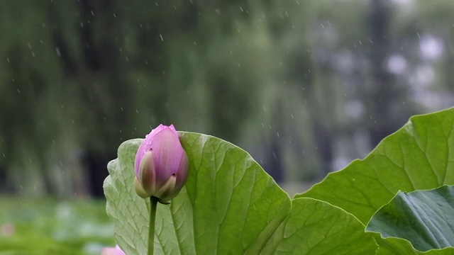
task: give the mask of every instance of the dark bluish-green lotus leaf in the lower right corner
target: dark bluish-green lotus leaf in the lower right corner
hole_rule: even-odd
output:
[[[366,230],[409,240],[419,251],[453,247],[454,187],[399,192],[375,213]]]

